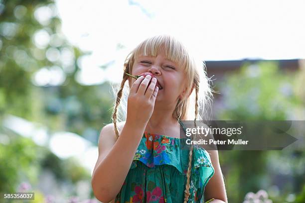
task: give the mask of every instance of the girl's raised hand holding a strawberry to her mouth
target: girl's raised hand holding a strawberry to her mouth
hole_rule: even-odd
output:
[[[127,101],[126,123],[135,126],[139,124],[146,125],[151,118],[158,93],[158,87],[155,86],[155,78],[152,79],[149,85],[151,78],[150,75],[146,76],[146,78],[141,76],[132,85]]]

